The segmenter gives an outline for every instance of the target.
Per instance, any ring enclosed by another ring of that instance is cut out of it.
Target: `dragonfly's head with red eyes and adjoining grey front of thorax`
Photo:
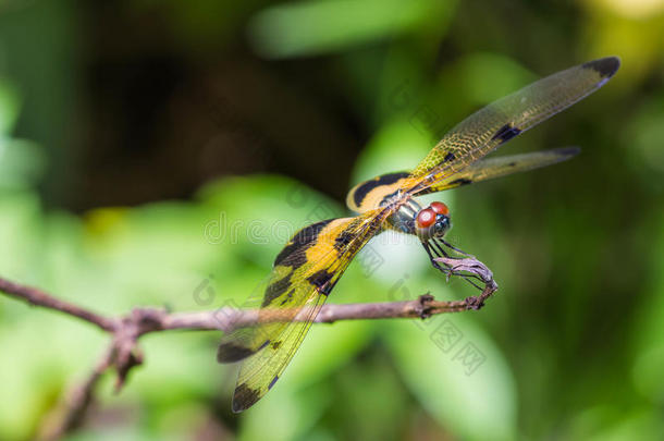
[[[389,219],[390,225],[402,233],[414,234],[422,241],[443,237],[452,228],[450,209],[443,203],[431,203],[422,207],[415,199],[408,199]]]

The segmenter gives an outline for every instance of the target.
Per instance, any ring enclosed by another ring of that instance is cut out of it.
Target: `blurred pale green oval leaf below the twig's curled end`
[[[514,379],[476,316],[389,326],[385,338],[404,380],[443,427],[463,439],[515,439]]]

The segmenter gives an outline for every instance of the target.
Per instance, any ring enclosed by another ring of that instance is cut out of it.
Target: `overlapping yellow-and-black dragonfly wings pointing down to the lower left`
[[[386,210],[322,221],[297,232],[276,256],[257,322],[222,338],[220,363],[245,359],[233,412],[260,400],[281,377],[328,295],[361,247],[380,231]]]

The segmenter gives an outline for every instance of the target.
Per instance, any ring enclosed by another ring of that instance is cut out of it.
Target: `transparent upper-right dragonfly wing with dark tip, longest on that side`
[[[479,160],[533,125],[602,87],[620,65],[602,58],[539,79],[484,107],[452,128],[413,172],[414,195]]]

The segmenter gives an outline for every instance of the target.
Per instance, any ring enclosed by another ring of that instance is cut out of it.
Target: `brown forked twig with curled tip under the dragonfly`
[[[423,319],[438,314],[479,309],[484,305],[484,301],[497,290],[491,271],[474,257],[436,260],[445,264],[452,274],[469,273],[481,280],[485,285],[484,290],[479,296],[454,302],[435,301],[432,295],[425,294],[414,301],[324,305],[315,321],[332,323],[339,320],[360,319]],[[27,301],[30,305],[77,317],[112,334],[109,348],[88,378],[67,393],[62,409],[47,418],[40,431],[41,438],[45,440],[60,439],[81,425],[93,402],[95,387],[109,368],[115,368],[118,373],[115,390],[119,391],[124,385],[132,368],[143,363],[143,353],[138,347],[138,339],[142,335],[167,330],[222,330],[229,332],[235,328],[255,324],[257,321],[298,320],[299,317],[305,317],[305,315],[292,314],[288,310],[275,310],[273,314],[259,316],[256,309],[221,307],[199,313],[169,313],[160,308],[135,308],[125,316],[113,318],[60,301],[36,287],[21,285],[2,278],[0,278],[0,291]]]

